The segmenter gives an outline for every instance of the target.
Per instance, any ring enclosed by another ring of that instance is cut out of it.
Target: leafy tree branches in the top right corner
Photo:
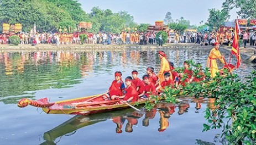
[[[233,8],[239,8],[237,12],[242,18],[256,18],[255,0],[226,0],[222,3],[222,8],[229,13]]]

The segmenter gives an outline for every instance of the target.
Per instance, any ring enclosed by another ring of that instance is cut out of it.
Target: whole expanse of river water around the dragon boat
[[[159,50],[0,53],[0,144],[222,144],[221,130],[202,132],[203,111],[211,107],[204,103],[208,101],[193,103],[185,98],[175,105],[159,104],[150,112],[125,109],[90,116],[17,107],[24,97],[55,102],[104,93],[115,71],[122,71],[123,77],[132,70],[142,77],[148,66],[158,71]],[[210,48],[163,50],[175,66],[186,59],[206,66],[210,52]],[[242,63],[234,72],[244,76],[252,70],[251,64]],[[122,133],[116,133],[117,126],[122,126]]]

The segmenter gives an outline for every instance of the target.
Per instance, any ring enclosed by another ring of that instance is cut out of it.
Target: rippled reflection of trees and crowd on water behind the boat
[[[17,103],[22,97],[35,97],[35,91],[74,87],[87,77],[112,75],[114,71],[137,69],[141,74],[148,66],[159,70],[158,49],[124,49],[121,51],[38,51],[0,53],[0,101]],[[175,66],[194,59],[206,66],[207,49],[164,49]],[[223,52],[224,53],[224,52]],[[234,59],[235,60],[235,59]],[[242,64],[238,74],[253,68]],[[110,76],[109,76],[110,77]],[[102,83],[95,78],[95,83]],[[182,111],[186,110],[181,110]]]

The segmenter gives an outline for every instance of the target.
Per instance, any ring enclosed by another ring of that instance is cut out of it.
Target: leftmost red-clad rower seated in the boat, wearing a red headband
[[[123,96],[125,86],[122,81],[122,72],[116,71],[114,73],[114,79],[115,80],[108,89],[108,93],[102,96],[105,101],[108,101],[112,96]]]

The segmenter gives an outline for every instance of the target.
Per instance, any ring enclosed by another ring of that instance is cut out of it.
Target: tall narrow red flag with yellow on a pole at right
[[[241,64],[241,56],[239,53],[239,28],[238,27],[239,27],[238,21],[236,20],[236,27],[234,30],[234,38],[233,38],[231,53],[237,57],[237,69]]]

